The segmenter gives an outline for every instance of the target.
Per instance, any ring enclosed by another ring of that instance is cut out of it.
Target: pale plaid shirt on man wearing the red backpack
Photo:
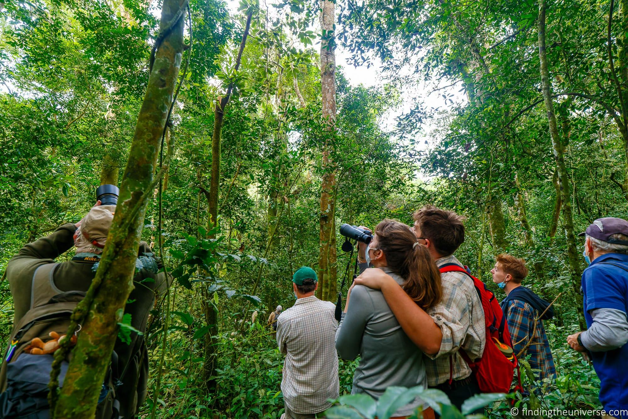
[[[439,267],[451,263],[462,266],[453,255],[436,260]],[[484,353],[486,343],[484,310],[472,279],[462,272],[445,272],[441,274],[441,281],[443,299],[428,310],[443,332],[438,354],[425,354],[425,371],[430,387],[445,383],[450,377],[460,380],[470,376],[471,369],[458,354],[458,349],[464,349],[471,359],[476,359]]]

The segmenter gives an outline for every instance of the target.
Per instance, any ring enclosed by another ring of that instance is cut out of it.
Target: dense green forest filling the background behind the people
[[[498,299],[490,270],[507,252],[553,302],[558,377],[535,381],[522,359],[526,393],[511,398],[600,409],[566,337],[587,328],[578,233],[628,214],[626,28],[626,0],[0,0],[0,272],[120,186],[137,224],[121,229],[138,233],[120,240],[148,242],[174,279],[143,334],[141,417],[279,418],[266,319],[295,303],[293,273],[313,268],[335,303],[355,261],[340,224],[411,226],[431,204],[465,217],[455,255]],[[154,105],[139,155],[153,65],[172,82],[161,101],[178,94],[167,117]],[[341,395],[356,365],[340,360]],[[511,417],[509,403],[487,398],[485,414]]]

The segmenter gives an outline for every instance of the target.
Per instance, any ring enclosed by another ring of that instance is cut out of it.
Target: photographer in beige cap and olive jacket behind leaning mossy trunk
[[[6,277],[13,296],[14,324],[0,373],[0,418],[48,418],[53,353],[67,333],[69,314],[94,279],[94,265],[100,260],[115,208],[98,201],[81,221],[62,225],[51,235],[28,243],[9,261]],[[76,247],[72,259],[55,263],[72,247]],[[136,274],[135,288],[124,309],[131,314],[131,326],[140,332],[146,330],[156,295],[168,287],[165,274],[156,273],[161,262],[151,254],[148,243],[141,242],[139,255],[153,259],[154,266]],[[44,317],[48,320],[35,323]],[[64,365],[60,384],[67,369],[66,362]],[[96,417],[134,418],[146,399],[147,383],[148,352],[143,335],[131,333],[129,343],[116,340]]]

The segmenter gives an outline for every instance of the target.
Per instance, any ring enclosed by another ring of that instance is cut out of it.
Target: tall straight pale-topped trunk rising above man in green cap
[[[323,36],[320,43],[320,79],[322,114],[325,124],[323,143],[323,181],[320,194],[320,249],[318,254],[318,298],[336,299],[336,176],[330,149],[336,123],[336,57],[333,33],[335,3],[323,0],[320,23]]]

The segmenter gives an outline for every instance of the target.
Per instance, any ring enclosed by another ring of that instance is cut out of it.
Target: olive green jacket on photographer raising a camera
[[[6,278],[9,281],[14,304],[13,324],[28,311],[31,303],[31,286],[33,275],[40,265],[55,263],[55,259],[72,249],[73,235],[76,226],[65,224],[47,237],[28,243],[19,250],[6,267]],[[139,255],[152,252],[148,243],[141,242]],[[54,271],[54,284],[61,292],[87,291],[94,279],[92,271],[95,261],[68,260],[61,262]],[[161,268],[161,262],[158,262]],[[124,309],[131,314],[131,325],[140,332],[145,332],[146,323],[154,301],[158,294],[164,293],[170,286],[171,277],[166,281],[163,272],[153,274],[141,269],[133,279],[135,288],[131,291],[129,301]],[[136,410],[146,398],[146,382],[148,380],[148,354],[143,336],[131,333],[131,344],[120,340],[114,347],[118,356],[117,374],[122,384],[116,390],[116,399],[120,402],[120,414],[123,418],[133,418]]]

